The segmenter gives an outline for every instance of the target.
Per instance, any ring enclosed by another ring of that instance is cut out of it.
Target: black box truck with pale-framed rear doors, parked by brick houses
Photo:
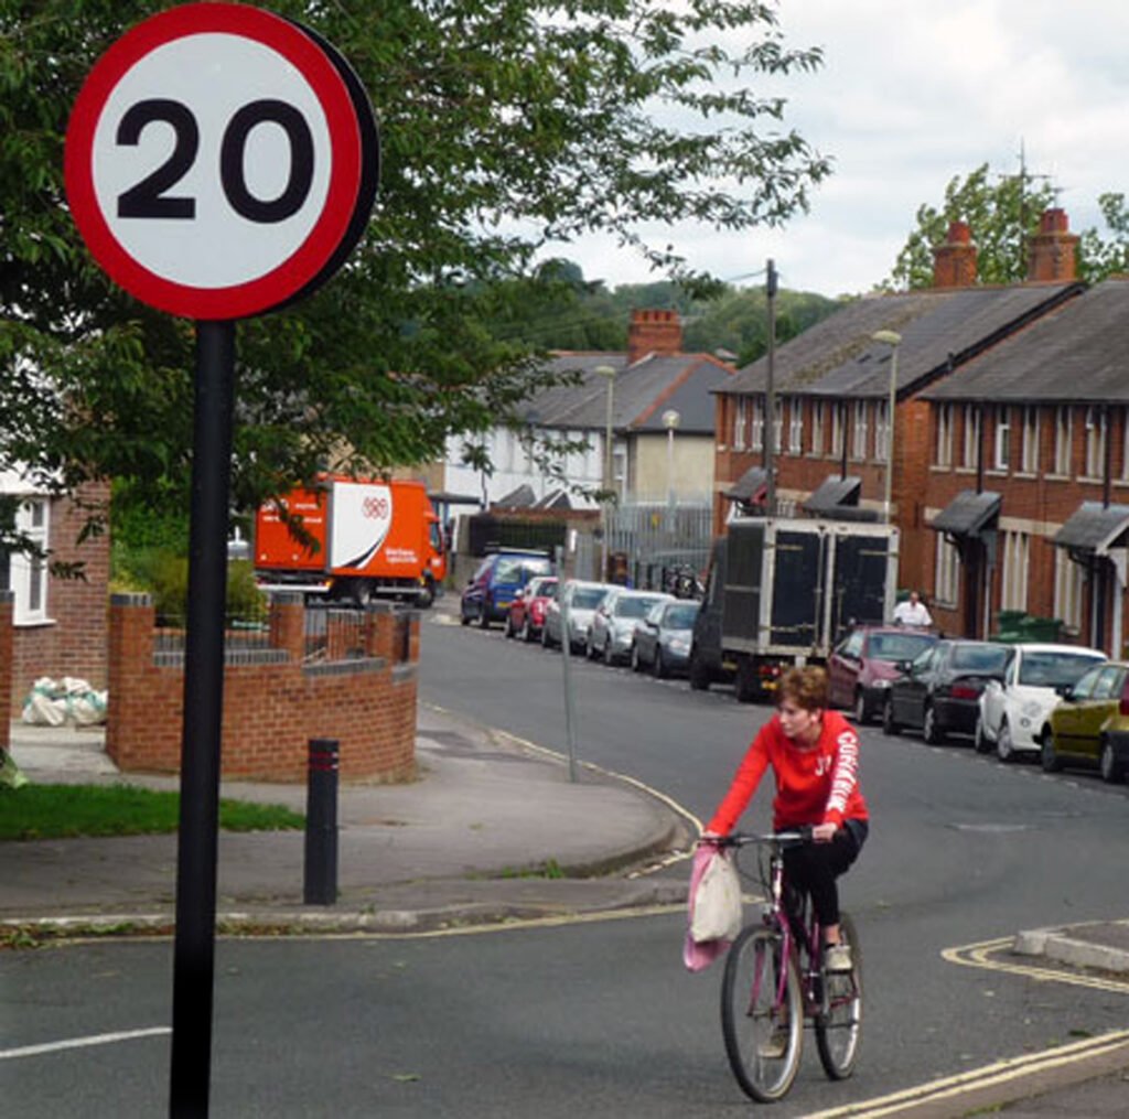
[[[690,650],[690,687],[733,680],[769,697],[784,668],[823,664],[852,624],[890,618],[898,530],[858,522],[742,517],[715,541]]]

